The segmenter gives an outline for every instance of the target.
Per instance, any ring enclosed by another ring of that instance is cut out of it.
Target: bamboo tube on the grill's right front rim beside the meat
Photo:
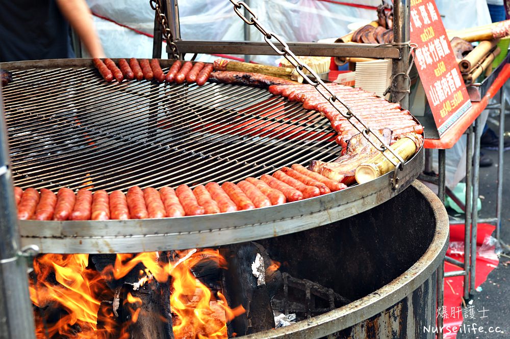
[[[407,161],[415,155],[418,150],[417,140],[413,140],[412,136],[405,136],[398,139],[395,144],[392,145],[392,149],[397,152],[404,161]],[[384,153],[393,161],[398,162],[390,151],[386,150]],[[362,163],[358,165],[354,173],[354,178],[359,184],[364,184],[393,170],[395,170],[395,166],[386,158],[385,155],[380,153],[372,158],[370,163]]]

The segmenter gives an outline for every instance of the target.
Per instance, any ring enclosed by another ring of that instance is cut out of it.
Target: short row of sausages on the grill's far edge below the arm
[[[205,64],[197,62],[193,64],[191,61],[175,61],[168,73],[165,74],[161,69],[158,59],[140,59],[131,58],[129,62],[125,59],[118,60],[118,67],[115,62],[109,58],[104,60],[94,58],[94,66],[97,68],[101,76],[111,82],[114,79],[118,82],[122,80],[143,79],[158,82],[175,82],[177,84],[196,82],[198,86],[202,86],[209,79],[213,71],[213,64]]]

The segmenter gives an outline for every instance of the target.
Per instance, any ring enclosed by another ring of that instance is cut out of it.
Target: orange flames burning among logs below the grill
[[[37,338],[129,338],[129,331],[118,328],[116,311],[112,312],[112,307],[101,301],[115,299],[115,292],[105,279],[120,279],[142,263],[145,269],[140,270],[140,280],[135,285],[143,286],[151,279],[159,283],[171,279],[170,308],[175,338],[226,339],[226,322],[243,314],[244,308],[230,308],[220,292],[215,295],[191,273],[192,267],[206,260],[224,268],[225,260],[214,249],[181,251],[179,257],[177,261],[163,261],[157,252],[118,254],[115,264],[102,272],[88,268],[88,255],[37,257],[35,279],[30,286],[32,302],[39,308],[35,312]],[[136,323],[144,312],[142,299],[127,293],[123,303],[131,313],[130,322]]]

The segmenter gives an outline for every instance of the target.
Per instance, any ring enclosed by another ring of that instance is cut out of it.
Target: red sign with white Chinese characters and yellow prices
[[[411,0],[411,42],[439,136],[470,108],[471,100],[433,0]]]

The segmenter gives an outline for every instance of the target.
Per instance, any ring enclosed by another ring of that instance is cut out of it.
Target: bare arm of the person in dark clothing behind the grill
[[[56,0],[62,15],[85,45],[92,58],[105,58],[105,51],[94,29],[90,9],[85,0]]]

